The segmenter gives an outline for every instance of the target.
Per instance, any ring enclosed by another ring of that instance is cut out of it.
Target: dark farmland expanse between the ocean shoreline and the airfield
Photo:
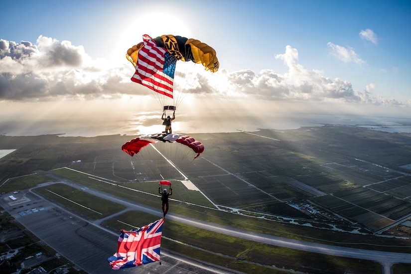
[[[206,147],[195,160],[189,149],[162,142],[130,157],[120,149],[133,138],[127,136],[0,136],[0,149],[16,149],[0,159],[1,170],[7,166],[2,181],[69,167],[150,193],[158,180],[178,185],[188,178],[209,199],[207,206],[355,224],[370,232],[411,216],[410,135],[325,125],[193,137]],[[203,200],[195,192],[176,191],[184,200]]]

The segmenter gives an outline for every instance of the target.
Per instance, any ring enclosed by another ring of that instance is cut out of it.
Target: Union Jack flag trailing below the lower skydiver
[[[107,259],[113,270],[132,268],[160,260],[164,218],[138,230],[122,230],[117,252]]]

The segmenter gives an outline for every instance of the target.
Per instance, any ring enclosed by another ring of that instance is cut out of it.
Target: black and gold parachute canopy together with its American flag
[[[136,68],[132,81],[164,96],[173,98],[174,72],[178,60],[202,64],[205,70],[216,72],[220,66],[216,51],[196,39],[174,35],[151,38],[129,48],[126,58]]]

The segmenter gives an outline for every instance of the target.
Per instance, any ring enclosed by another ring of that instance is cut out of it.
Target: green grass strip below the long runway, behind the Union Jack
[[[129,230],[148,224],[155,218],[144,212],[128,212],[106,221],[106,224],[114,230]],[[132,226],[125,227],[125,223]],[[163,248],[190,254],[190,257],[215,262],[245,273],[254,273],[257,270],[259,273],[275,273],[275,270],[281,273],[282,268],[308,273],[344,273],[350,269],[361,273],[378,273],[381,269],[379,264],[372,261],[322,256],[274,247],[169,220],[165,220],[163,226]]]

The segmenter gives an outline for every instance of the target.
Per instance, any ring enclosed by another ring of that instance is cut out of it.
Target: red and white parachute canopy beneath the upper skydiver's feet
[[[182,136],[182,134],[166,133],[137,137],[123,144],[122,149],[130,156],[133,156],[134,154],[140,152],[141,149],[146,147],[148,144],[155,143],[157,141],[177,142],[186,145],[197,153],[194,159],[200,156],[200,154],[204,151],[204,145],[200,141],[195,140],[193,137],[187,135]]]

